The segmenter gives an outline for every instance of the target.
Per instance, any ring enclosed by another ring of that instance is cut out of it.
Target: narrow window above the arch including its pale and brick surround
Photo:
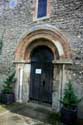
[[[33,0],[33,20],[48,18],[51,15],[52,0]]]

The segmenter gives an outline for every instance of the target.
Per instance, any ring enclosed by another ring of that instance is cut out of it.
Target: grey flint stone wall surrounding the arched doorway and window
[[[72,49],[72,78],[79,86],[79,96],[83,95],[83,0],[50,0],[51,16],[44,20],[33,21],[34,5],[32,0],[18,0],[17,6],[9,8],[8,1],[0,2],[0,37],[3,32],[3,47],[0,55],[0,84],[7,76],[8,68],[15,67],[15,52],[20,40],[34,26],[50,24],[58,28]]]

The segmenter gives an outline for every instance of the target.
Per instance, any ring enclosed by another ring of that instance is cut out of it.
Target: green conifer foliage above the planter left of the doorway
[[[4,94],[10,94],[13,93],[13,84],[15,83],[15,72],[8,75],[6,80],[4,81],[3,90],[2,93]]]

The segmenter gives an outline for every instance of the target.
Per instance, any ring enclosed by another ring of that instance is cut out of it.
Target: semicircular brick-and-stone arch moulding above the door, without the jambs
[[[53,44],[57,48],[59,57],[62,59],[71,59],[72,52],[68,39],[54,26],[51,25],[38,25],[32,27],[27,35],[20,41],[16,49],[16,61],[25,60],[26,50],[30,55],[29,47],[37,39],[46,39],[49,44]],[[33,45],[32,44],[32,45]],[[38,44],[37,44],[38,46]],[[47,44],[48,46],[48,44]],[[22,51],[21,51],[22,50]],[[29,57],[28,55],[28,57]],[[29,60],[30,58],[27,58]]]

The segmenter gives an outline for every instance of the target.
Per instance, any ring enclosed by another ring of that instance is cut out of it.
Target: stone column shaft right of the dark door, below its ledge
[[[59,100],[63,96],[65,83],[65,65],[54,64],[52,108],[55,109],[56,112],[60,110],[61,105]]]

